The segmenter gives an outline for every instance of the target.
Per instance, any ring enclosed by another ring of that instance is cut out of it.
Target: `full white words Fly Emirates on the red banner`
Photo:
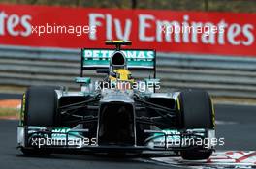
[[[181,21],[161,20],[153,14],[138,14],[138,27],[133,28],[135,25],[129,18],[126,18],[124,25],[121,25],[123,21],[114,18],[112,14],[91,13],[89,14],[89,25],[95,25],[96,27],[105,25],[105,38],[107,40],[130,40],[131,31],[138,29],[137,36],[140,42],[203,43],[211,45],[229,43],[248,46],[255,41],[254,25],[249,23],[227,23],[224,19],[220,19],[217,23],[193,21],[188,14],[184,14],[182,18]],[[186,29],[183,29],[184,27]],[[96,41],[97,34],[90,34],[89,39]]]

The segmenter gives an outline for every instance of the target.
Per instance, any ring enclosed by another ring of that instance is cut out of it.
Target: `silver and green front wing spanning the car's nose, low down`
[[[88,129],[67,127],[18,127],[17,147],[99,151],[180,151],[202,148],[214,150],[214,145],[204,141],[215,137],[215,130],[212,129],[144,130],[144,133],[150,133],[151,135],[145,139],[144,146],[98,145],[96,138],[83,136],[88,131]],[[199,145],[198,143],[204,143],[204,145]]]

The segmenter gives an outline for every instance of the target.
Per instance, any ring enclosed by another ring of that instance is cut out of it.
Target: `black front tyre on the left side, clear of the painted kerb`
[[[33,86],[28,88],[23,99],[24,126],[54,127],[56,124],[56,87]],[[24,155],[50,155],[48,149],[21,148]]]

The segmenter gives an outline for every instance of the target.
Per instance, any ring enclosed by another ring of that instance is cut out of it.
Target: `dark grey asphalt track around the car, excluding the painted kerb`
[[[14,98],[9,96],[9,98],[5,97],[5,99]],[[18,99],[18,97],[16,99]],[[256,106],[216,105],[215,109],[217,120],[216,136],[225,138],[225,145],[217,147],[217,151],[255,151]],[[18,150],[16,150],[16,126],[17,121],[0,120],[0,168],[180,168],[178,166],[169,166],[160,162],[152,161],[149,157],[144,156],[63,154],[51,155],[49,157],[24,156]],[[181,168],[184,168],[184,166]]]

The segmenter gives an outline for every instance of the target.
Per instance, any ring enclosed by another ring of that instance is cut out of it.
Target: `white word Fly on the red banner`
[[[112,40],[116,37],[119,40],[129,40],[132,30],[132,20],[125,19],[124,28],[121,26],[121,20],[112,18],[112,14],[89,14],[89,26],[101,27],[102,21],[105,22],[106,40]],[[115,32],[115,35],[113,33]],[[90,40],[97,40],[97,34],[89,34]]]

